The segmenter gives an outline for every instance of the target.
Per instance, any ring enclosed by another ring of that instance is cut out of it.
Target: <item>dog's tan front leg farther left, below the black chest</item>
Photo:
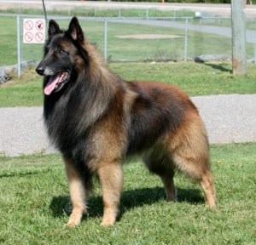
[[[73,227],[80,225],[82,216],[86,213],[86,197],[88,193],[86,193],[83,176],[79,173],[79,169],[75,163],[67,157],[64,157],[63,160],[65,162],[70,197],[73,205],[67,226]]]

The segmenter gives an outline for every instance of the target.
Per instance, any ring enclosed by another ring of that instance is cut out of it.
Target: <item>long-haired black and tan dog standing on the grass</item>
[[[67,31],[49,21],[44,59],[44,121],[66,166],[73,211],[67,225],[86,213],[92,174],[102,184],[102,225],[113,225],[123,187],[122,163],[140,154],[158,174],[168,201],[175,200],[175,168],[196,179],[206,204],[216,203],[207,133],[195,105],[164,83],[126,82],[102,61],[76,17]]]

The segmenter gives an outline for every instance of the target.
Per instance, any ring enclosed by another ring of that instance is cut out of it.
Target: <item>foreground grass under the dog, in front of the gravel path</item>
[[[64,224],[69,193],[61,157],[0,157],[1,244],[255,244],[256,144],[212,145],[218,208],[204,207],[199,185],[177,174],[178,202],[164,200],[160,179],[140,162],[125,165],[121,215],[100,226],[100,186],[89,217]]]

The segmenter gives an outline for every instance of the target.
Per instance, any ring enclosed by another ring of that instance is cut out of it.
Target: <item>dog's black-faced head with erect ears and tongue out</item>
[[[55,20],[49,20],[44,58],[36,68],[45,77],[44,94],[59,92],[76,79],[81,67],[89,62],[83,45],[84,33],[76,17],[70,21],[67,31],[62,31]]]

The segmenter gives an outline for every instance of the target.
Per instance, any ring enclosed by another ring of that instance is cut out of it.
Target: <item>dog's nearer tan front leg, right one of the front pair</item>
[[[123,190],[123,168],[119,162],[104,162],[97,174],[102,184],[104,212],[102,225],[113,225],[119,213]]]

